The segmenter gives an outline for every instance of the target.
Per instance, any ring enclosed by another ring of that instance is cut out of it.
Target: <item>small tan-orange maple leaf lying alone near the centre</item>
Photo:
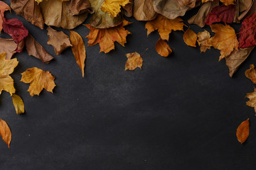
[[[138,52],[132,52],[132,53],[128,53],[126,54],[128,60],[125,63],[125,70],[129,69],[129,70],[134,70],[137,67],[139,67],[140,69],[142,69],[142,57],[139,55]]]

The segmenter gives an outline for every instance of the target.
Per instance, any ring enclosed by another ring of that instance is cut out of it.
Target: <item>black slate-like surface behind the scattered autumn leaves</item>
[[[183,19],[196,11],[188,11]],[[87,50],[82,79],[70,49],[55,56],[46,30],[14,11],[6,13],[6,18],[23,21],[55,57],[44,69],[56,77],[57,86],[53,94],[43,90],[31,97],[29,85],[20,81],[21,72],[41,68],[42,62],[26,50],[15,55],[19,64],[11,77],[26,113],[16,115],[9,94],[1,94],[0,117],[12,132],[10,148],[0,141],[1,170],[255,169],[255,113],[245,104],[253,85],[244,74],[256,62],[255,50],[230,79],[225,61],[218,62],[219,51],[200,53],[198,47],[188,47],[182,31],[170,34],[174,52],[161,57],[154,47],[159,34],[147,38],[146,22],[127,18],[133,23],[126,27],[132,33],[126,47],[115,43],[115,50],[106,55],[99,53],[99,45],[87,47],[89,30],[79,26],[75,31]],[[233,26],[238,33],[240,26]],[[196,33],[203,30],[191,28]],[[125,54],[142,54],[146,48],[142,70],[125,72]],[[250,137],[240,145],[236,128],[247,118]]]

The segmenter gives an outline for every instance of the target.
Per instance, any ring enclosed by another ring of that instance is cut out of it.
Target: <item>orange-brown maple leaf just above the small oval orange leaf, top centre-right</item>
[[[169,19],[164,16],[157,16],[154,20],[148,21],[145,28],[147,29],[147,35],[154,30],[158,30],[161,39],[169,40],[169,33],[172,30],[183,30],[184,24],[181,18]]]

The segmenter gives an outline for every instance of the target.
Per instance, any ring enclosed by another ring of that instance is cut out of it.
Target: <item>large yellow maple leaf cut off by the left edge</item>
[[[17,59],[6,60],[6,53],[0,55],[0,94],[1,91],[7,91],[14,94],[14,79],[9,74],[14,72],[14,68],[18,65]]]

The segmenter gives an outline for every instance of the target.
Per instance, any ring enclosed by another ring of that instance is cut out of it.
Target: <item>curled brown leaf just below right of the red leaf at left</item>
[[[26,50],[28,55],[38,58],[42,62],[49,63],[53,60],[53,56],[49,55],[48,52],[33,38],[31,34],[28,34],[26,38]]]

